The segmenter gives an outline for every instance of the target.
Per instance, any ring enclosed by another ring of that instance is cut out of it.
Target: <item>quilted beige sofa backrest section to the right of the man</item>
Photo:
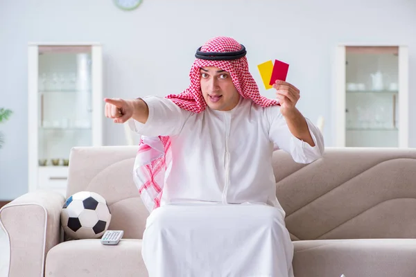
[[[327,148],[307,166],[275,153],[293,240],[416,238],[416,149]]]

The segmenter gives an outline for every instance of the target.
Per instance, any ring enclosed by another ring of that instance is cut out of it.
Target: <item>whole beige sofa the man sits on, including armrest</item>
[[[125,231],[117,246],[62,242],[64,197],[55,193],[29,193],[1,209],[11,277],[148,275],[140,240],[148,212],[132,181],[136,150],[71,151],[67,195],[89,190],[107,199],[110,229]],[[309,165],[277,151],[273,166],[295,277],[416,276],[416,149],[327,148]]]

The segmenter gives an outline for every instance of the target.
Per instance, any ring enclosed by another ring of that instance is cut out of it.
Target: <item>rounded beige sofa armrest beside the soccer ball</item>
[[[59,193],[37,191],[0,209],[0,227],[10,243],[9,276],[44,276],[46,253],[60,242],[64,202]]]

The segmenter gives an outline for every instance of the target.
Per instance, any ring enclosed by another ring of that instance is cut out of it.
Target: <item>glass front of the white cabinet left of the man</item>
[[[68,166],[73,146],[92,145],[92,47],[38,49],[39,166]]]

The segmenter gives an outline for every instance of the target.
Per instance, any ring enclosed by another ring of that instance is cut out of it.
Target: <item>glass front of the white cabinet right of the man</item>
[[[345,49],[345,146],[399,146],[399,47]]]

